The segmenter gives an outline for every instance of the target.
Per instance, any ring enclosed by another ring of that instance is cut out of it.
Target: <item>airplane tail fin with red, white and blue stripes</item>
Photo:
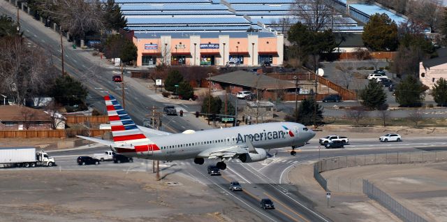
[[[122,152],[125,152],[125,149],[131,149],[131,151],[148,151],[149,146],[152,146],[152,142],[138,128],[115,97],[112,95],[104,96],[104,101],[115,147],[118,150],[123,149]]]

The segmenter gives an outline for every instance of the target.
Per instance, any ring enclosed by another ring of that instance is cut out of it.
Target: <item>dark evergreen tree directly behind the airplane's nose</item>
[[[314,98],[304,99],[301,101],[298,110],[295,110],[295,114],[293,115],[293,121],[296,119],[296,115],[298,114],[298,123],[309,126],[314,124],[314,108],[315,108],[315,100]],[[320,125],[323,123],[323,107],[316,104],[316,125]]]

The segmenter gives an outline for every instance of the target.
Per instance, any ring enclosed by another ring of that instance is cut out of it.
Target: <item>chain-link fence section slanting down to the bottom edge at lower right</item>
[[[387,193],[381,191],[381,189],[374,186],[374,184],[369,183],[366,179],[363,179],[363,193],[365,193],[368,198],[376,200],[383,207],[386,207],[386,209],[398,216],[402,221],[427,222],[427,220],[423,219],[418,214],[411,212],[411,210],[404,207],[404,205],[401,205]]]

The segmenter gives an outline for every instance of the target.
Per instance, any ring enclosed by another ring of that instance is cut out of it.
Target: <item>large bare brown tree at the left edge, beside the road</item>
[[[56,75],[50,54],[20,37],[0,39],[0,91],[24,104],[45,91]]]

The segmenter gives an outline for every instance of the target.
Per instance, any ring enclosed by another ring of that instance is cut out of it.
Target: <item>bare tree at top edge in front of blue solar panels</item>
[[[333,4],[332,0],[295,0],[291,13],[306,24],[310,31],[323,31],[325,27],[332,27],[339,18],[333,16]]]

